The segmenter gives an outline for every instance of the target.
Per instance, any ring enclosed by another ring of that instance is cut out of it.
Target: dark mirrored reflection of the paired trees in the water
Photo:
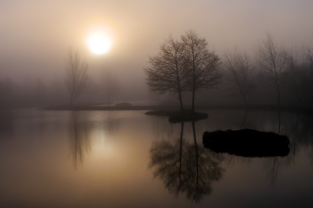
[[[181,123],[180,138],[156,141],[150,150],[149,168],[154,177],[160,178],[166,189],[178,197],[184,193],[193,202],[212,192],[211,184],[222,178],[223,156],[197,145],[195,122],[191,122],[194,143],[183,142],[184,123]]]

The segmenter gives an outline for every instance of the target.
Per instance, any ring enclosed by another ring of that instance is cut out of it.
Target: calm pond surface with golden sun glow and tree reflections
[[[144,113],[1,112],[0,207],[313,207],[313,117],[212,110],[193,126]],[[204,131],[242,128],[289,136],[289,155],[202,145]]]

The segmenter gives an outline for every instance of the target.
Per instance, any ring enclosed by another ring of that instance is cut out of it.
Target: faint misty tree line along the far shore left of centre
[[[88,69],[79,51],[70,47],[65,58],[64,81],[51,80],[49,84],[40,77],[30,77],[25,83],[17,84],[9,77],[0,77],[0,109],[62,105],[68,98],[68,104],[72,105],[83,94],[85,103],[92,103],[95,95],[103,94],[110,106],[111,97],[120,88],[117,76],[112,70],[104,69],[99,75],[101,81],[97,83],[89,76]]]

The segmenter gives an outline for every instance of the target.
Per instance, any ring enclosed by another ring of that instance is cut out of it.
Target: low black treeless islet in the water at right
[[[212,151],[243,157],[287,156],[290,151],[287,136],[252,129],[204,132],[202,143]]]

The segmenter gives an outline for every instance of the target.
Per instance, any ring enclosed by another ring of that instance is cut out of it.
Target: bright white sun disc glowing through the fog
[[[109,37],[102,33],[90,34],[87,39],[87,45],[94,54],[105,54],[111,49],[112,42]]]

